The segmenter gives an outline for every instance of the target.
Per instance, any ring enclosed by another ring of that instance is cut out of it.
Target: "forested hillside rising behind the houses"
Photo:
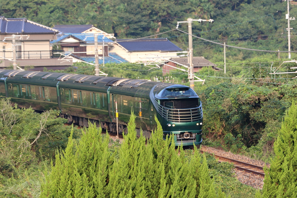
[[[228,45],[261,50],[287,50],[287,2],[279,0],[2,0],[0,15],[6,18],[26,17],[53,27],[58,24],[93,24],[117,38],[140,38],[176,27],[188,17],[215,20],[214,24],[193,23],[194,35]],[[297,17],[297,5],[290,5],[290,16]],[[296,20],[291,27],[296,27]],[[187,31],[187,24],[181,24]],[[292,30],[291,50],[297,50],[296,31]],[[168,37],[186,49],[187,35],[173,31]],[[223,48],[193,40],[195,56],[222,62]],[[227,62],[254,56],[277,58],[277,53],[258,53],[227,48]],[[294,53],[292,57],[294,58]],[[281,57],[287,57],[282,53]]]

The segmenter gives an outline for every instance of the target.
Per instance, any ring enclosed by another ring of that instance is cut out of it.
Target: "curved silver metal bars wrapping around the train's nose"
[[[156,86],[156,85],[155,85]],[[171,109],[163,107],[154,99],[154,88],[151,89],[149,94],[151,102],[156,108],[157,112],[167,121],[173,122],[193,122],[203,118],[202,103],[200,101],[199,107],[187,109]]]

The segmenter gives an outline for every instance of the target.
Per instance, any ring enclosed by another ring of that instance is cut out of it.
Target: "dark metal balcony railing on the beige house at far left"
[[[64,50],[50,50],[50,51],[16,51],[17,59],[43,59],[43,58],[59,58],[57,52],[64,52]],[[3,52],[0,51],[0,60],[9,58],[12,59],[12,51]]]

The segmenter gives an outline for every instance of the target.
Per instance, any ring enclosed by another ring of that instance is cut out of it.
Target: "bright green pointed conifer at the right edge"
[[[265,169],[263,186],[263,197],[265,198],[297,196],[296,127],[297,107],[296,102],[293,101],[274,142],[275,157],[270,168]]]

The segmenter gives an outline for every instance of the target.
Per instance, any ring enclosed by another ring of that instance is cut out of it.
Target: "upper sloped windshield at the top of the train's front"
[[[193,91],[189,87],[183,87],[183,88],[168,88],[163,89],[160,91],[157,96],[161,98],[177,98],[177,97],[190,97],[190,96],[197,96],[195,91]]]

